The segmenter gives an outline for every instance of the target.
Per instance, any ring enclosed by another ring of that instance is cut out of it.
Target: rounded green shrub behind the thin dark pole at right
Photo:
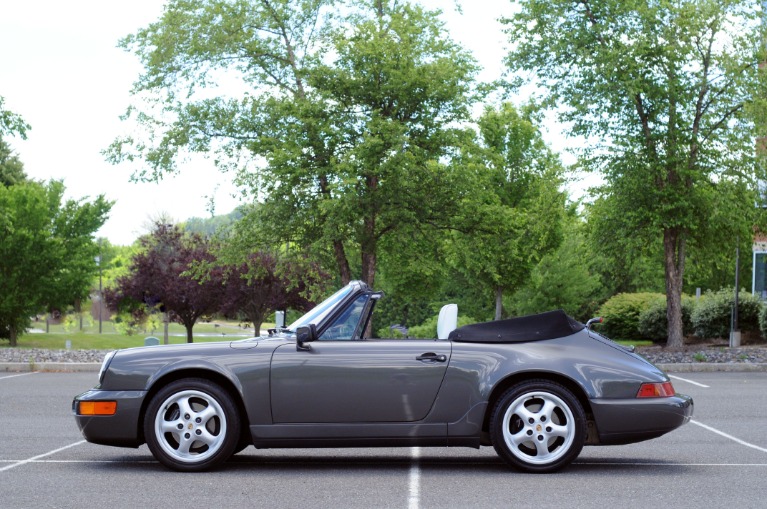
[[[692,325],[699,338],[714,339],[730,336],[730,323],[735,298],[731,289],[706,292],[692,313]],[[738,328],[756,332],[760,328],[762,302],[759,297],[741,291],[738,294]]]

